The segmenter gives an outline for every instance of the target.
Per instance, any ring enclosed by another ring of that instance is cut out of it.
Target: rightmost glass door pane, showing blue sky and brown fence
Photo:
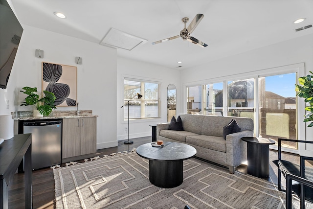
[[[296,73],[259,77],[259,135],[278,142],[278,138],[298,139]],[[276,144],[277,145],[277,144]],[[297,143],[282,146],[297,149]]]

